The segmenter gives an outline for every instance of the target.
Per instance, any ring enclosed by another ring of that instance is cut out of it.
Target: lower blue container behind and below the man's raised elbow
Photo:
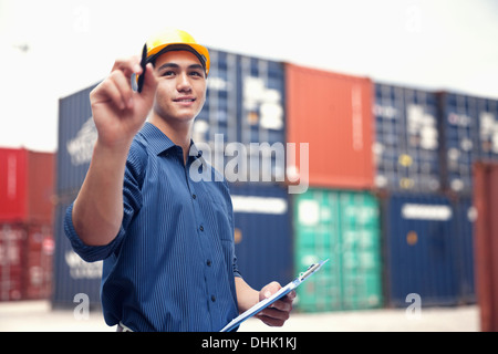
[[[52,305],[55,308],[74,306],[74,296],[79,293],[89,295],[91,305],[100,306],[100,288],[102,261],[87,263],[74,253],[64,235],[64,216],[69,204],[75,195],[60,196],[55,209],[55,253],[53,256],[53,293]]]

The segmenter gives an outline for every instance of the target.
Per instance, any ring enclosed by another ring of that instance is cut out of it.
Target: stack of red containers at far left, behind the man
[[[52,284],[54,156],[0,149],[0,300],[46,299]]]

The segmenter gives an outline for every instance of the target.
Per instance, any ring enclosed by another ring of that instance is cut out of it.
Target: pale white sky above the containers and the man
[[[59,100],[165,27],[217,50],[498,100],[496,0],[0,0],[0,147],[55,152]]]

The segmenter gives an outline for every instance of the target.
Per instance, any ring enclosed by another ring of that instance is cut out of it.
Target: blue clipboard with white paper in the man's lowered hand
[[[288,293],[290,293],[292,290],[294,290],[295,288],[298,288],[304,280],[307,280],[308,278],[310,278],[312,274],[314,274],[318,270],[320,270],[320,268],[322,268],[322,266],[328,262],[329,259],[325,259],[321,262],[311,264],[305,272],[302,272],[301,274],[299,274],[298,278],[295,278],[294,280],[292,280],[290,283],[288,283],[286,287],[283,287],[282,289],[280,289],[279,291],[277,291],[273,295],[271,295],[268,299],[261,300],[260,302],[258,302],[256,305],[253,305],[252,308],[250,308],[249,310],[247,310],[246,312],[243,312],[242,314],[240,314],[239,316],[235,317],[234,320],[231,320],[225,327],[221,329],[220,332],[230,332],[234,329],[236,329],[238,325],[240,325],[240,323],[242,323],[243,321],[246,321],[247,319],[252,317],[255,314],[257,314],[258,312],[264,310],[266,308],[268,308],[269,305],[271,305],[273,302],[276,302],[277,300],[286,296]]]

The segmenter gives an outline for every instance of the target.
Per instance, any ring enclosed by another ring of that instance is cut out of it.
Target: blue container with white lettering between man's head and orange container
[[[230,181],[260,181],[267,166],[266,181],[283,181],[286,168],[274,156],[286,142],[283,64],[219,50],[209,53],[206,103],[194,123],[194,142],[207,145],[203,156]]]

